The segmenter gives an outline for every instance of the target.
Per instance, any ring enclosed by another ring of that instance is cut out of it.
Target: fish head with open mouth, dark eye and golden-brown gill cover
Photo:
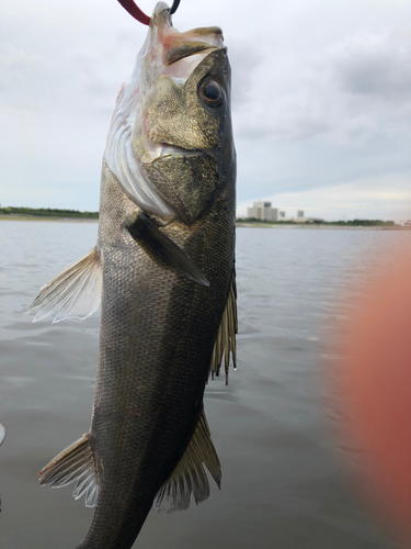
[[[106,160],[129,198],[195,221],[231,178],[230,65],[217,26],[180,33],[159,2],[109,133]]]

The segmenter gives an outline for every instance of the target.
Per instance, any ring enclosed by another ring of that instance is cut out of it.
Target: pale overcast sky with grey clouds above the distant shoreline
[[[116,0],[0,10],[1,206],[96,211],[147,27]],[[224,30],[239,215],[269,200],[288,216],[411,219],[410,0],[181,0],[173,24]]]

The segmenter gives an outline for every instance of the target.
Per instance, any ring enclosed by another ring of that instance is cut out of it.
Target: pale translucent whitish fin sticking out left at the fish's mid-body
[[[53,323],[65,318],[87,318],[99,309],[102,282],[100,257],[94,247],[45,284],[27,313],[39,307],[33,322],[47,316],[54,316]]]

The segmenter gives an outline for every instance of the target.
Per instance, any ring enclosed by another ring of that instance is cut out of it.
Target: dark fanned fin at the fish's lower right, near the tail
[[[204,466],[207,467],[219,488],[221,466],[203,410],[193,438],[183,457],[157,494],[152,505],[153,509],[157,512],[165,509],[168,513],[185,511],[190,506],[192,493],[197,505],[207,500],[209,484]]]

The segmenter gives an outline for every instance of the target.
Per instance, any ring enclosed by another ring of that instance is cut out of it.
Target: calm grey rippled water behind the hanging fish
[[[89,428],[99,315],[32,324],[38,288],[95,243],[94,223],[0,222],[0,547],[73,549],[92,509],[37,472]],[[409,233],[239,228],[238,370],[210,382],[206,413],[222,489],[184,513],[151,513],[135,547],[389,549],[357,500],[321,382],[345,294],[366,291]],[[355,301],[352,304],[355,309]],[[346,310],[346,307],[345,307]]]

